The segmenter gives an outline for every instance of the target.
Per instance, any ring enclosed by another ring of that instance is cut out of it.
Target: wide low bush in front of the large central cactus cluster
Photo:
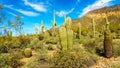
[[[83,49],[59,52],[50,60],[52,68],[88,68],[96,63],[96,57]]]

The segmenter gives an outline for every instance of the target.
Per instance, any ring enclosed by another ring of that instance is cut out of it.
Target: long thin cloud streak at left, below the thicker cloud
[[[36,13],[36,12],[32,12],[32,11],[25,11],[25,10],[22,10],[22,9],[15,9],[15,8],[12,8],[12,6],[9,6],[9,5],[5,5],[5,7],[9,8],[9,9],[12,9],[12,10],[15,10],[19,13],[22,13],[26,16],[38,16],[39,14]],[[12,14],[14,15],[14,14]]]

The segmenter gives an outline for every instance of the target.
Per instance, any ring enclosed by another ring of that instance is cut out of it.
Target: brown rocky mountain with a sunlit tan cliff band
[[[120,5],[112,7],[104,7],[90,11],[80,19],[74,19],[72,22],[73,29],[76,31],[77,24],[80,22],[84,28],[90,28],[92,25],[92,18],[94,17],[97,28],[102,28],[105,24],[105,17],[108,17],[109,22],[112,24],[111,29],[120,29]],[[118,28],[116,28],[118,27]]]

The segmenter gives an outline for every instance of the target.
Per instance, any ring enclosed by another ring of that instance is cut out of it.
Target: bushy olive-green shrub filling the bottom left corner
[[[1,54],[0,67],[1,68],[18,68],[22,63],[19,55],[16,54]]]

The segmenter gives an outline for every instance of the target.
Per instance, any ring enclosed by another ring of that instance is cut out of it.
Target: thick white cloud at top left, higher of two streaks
[[[28,0],[23,0],[25,5],[28,5],[30,7],[32,7],[34,10],[39,11],[39,12],[46,12],[47,9],[45,8],[43,3],[30,3]]]

